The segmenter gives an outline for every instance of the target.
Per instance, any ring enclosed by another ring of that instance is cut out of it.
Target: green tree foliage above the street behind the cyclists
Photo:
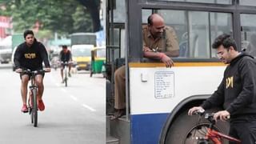
[[[14,32],[33,29],[39,22],[39,31],[47,34],[91,32],[90,13],[76,0],[0,0],[0,15],[12,17]]]

